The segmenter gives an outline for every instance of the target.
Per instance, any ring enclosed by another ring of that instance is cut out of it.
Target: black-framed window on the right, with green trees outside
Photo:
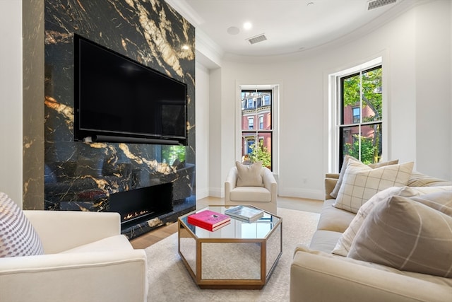
[[[345,155],[377,163],[382,154],[381,65],[338,77],[338,163]]]

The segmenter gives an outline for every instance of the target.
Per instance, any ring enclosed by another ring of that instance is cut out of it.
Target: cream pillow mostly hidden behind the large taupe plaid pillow
[[[438,196],[436,195],[438,194]],[[364,203],[358,210],[355,218],[353,218],[350,226],[340,236],[338,243],[336,243],[333,249],[333,254],[347,256],[352,246],[353,239],[361,228],[364,219],[374,209],[374,207],[380,202],[386,202],[394,195],[403,197],[411,197],[413,200],[422,200],[424,204],[430,202],[436,204],[438,209],[447,209],[449,206],[446,204],[446,198],[452,196],[452,186],[445,187],[389,187],[386,190],[375,194],[368,202]],[[445,199],[445,200],[444,200]],[[427,204],[429,205],[429,204]]]

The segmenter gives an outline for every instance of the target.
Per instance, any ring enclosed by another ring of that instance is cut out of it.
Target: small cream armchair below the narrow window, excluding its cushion
[[[278,185],[268,168],[261,168],[262,187],[237,187],[238,170],[231,168],[225,180],[225,205],[250,204],[254,207],[277,214],[276,197]]]

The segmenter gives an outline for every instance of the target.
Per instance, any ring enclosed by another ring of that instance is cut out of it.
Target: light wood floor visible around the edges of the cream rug
[[[196,201],[196,209],[202,209],[208,205],[223,205],[225,199],[218,197],[206,197]],[[320,213],[323,202],[315,199],[301,199],[295,197],[278,197],[278,207],[285,209],[296,209],[299,211],[311,211]],[[177,233],[177,223],[168,226],[160,226],[144,235],[133,238],[131,244],[133,248],[148,248],[148,246]]]

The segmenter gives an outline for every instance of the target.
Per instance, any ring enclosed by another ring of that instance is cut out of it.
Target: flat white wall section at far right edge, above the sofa
[[[436,173],[441,178],[451,178],[446,161],[432,158],[449,158],[452,152],[445,148],[451,144],[451,10],[445,2],[421,6],[416,12],[416,149],[417,168]],[[434,16],[434,21],[432,21]],[[436,58],[436,59],[434,59]],[[448,123],[446,123],[448,121]],[[448,131],[447,131],[448,129]]]

